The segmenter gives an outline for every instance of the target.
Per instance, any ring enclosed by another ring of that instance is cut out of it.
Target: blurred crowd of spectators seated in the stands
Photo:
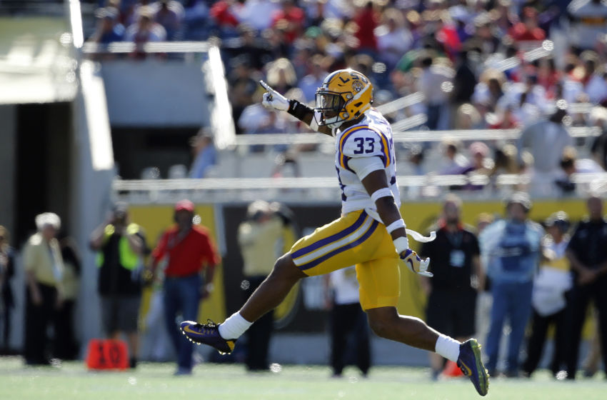
[[[554,195],[573,190],[571,174],[606,166],[607,5],[601,1],[105,0],[99,5],[89,41],[218,43],[237,134],[306,131],[291,116],[261,106],[259,79],[288,98],[313,104],[329,71],[351,67],[371,79],[374,106],[423,94],[421,101],[384,113],[398,123],[395,130],[423,116],[408,128],[526,132],[518,143],[472,144],[455,136],[438,145],[422,136],[419,144],[397,149],[414,174],[529,173],[538,180],[548,177],[550,187],[539,194]],[[131,56],[146,54],[137,47]],[[596,127],[598,133],[588,129],[582,136],[591,139],[574,141],[573,127]],[[538,140],[533,134],[538,130],[548,134]],[[546,156],[545,144],[554,138]],[[288,150],[284,158],[293,161],[297,152],[316,146],[273,149]],[[425,162],[428,150],[442,159]]]

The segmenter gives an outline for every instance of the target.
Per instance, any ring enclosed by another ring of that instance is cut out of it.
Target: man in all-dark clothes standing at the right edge
[[[603,364],[607,370],[607,221],[603,217],[602,199],[591,196],[586,206],[588,219],[578,224],[566,251],[573,271],[567,310],[570,329],[566,355],[568,379],[576,378],[582,326],[591,299],[598,310]]]

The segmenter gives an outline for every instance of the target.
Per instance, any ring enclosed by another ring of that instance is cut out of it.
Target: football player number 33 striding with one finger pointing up
[[[398,207],[396,159],[391,126],[371,108],[373,86],[358,71],[341,69],[329,74],[316,91],[316,108],[286,99],[270,86],[262,104],[286,111],[313,131],[335,137],[335,166],[341,188],[341,217],[316,229],[294,244],[274,264],[264,283],[242,308],[221,324],[181,323],[194,343],[214,346],[222,353],[251,324],[274,309],[299,279],[327,274],[356,264],[360,301],[371,329],[386,339],[436,351],[454,361],[484,396],[488,374],[476,339],[463,343],[440,334],[421,319],[398,315],[400,296],[398,259],[416,274],[432,276],[429,259],[409,249],[408,231]],[[417,239],[421,239],[417,236]]]

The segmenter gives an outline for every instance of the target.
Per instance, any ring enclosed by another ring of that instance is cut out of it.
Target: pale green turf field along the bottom
[[[465,379],[432,382],[428,370],[376,367],[368,379],[346,369],[331,379],[325,366],[283,366],[249,374],[241,365],[201,364],[192,376],[172,376],[174,364],[141,364],[136,371],[89,372],[81,363],[24,368],[19,358],[0,358],[0,399],[122,400],[448,400],[481,399]],[[486,399],[607,399],[601,377],[555,381],[546,371],[528,379],[493,379]]]

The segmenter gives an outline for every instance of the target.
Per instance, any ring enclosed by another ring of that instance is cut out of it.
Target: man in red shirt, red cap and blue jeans
[[[209,296],[213,289],[214,268],[221,261],[209,231],[193,223],[194,204],[181,200],[175,204],[176,224],[162,235],[156,249],[152,251],[151,272],[161,260],[164,267],[164,316],[177,353],[176,375],[189,375],[192,370],[191,342],[181,339],[178,314],[184,319],[198,318],[201,299]],[[202,279],[201,271],[204,271]]]

